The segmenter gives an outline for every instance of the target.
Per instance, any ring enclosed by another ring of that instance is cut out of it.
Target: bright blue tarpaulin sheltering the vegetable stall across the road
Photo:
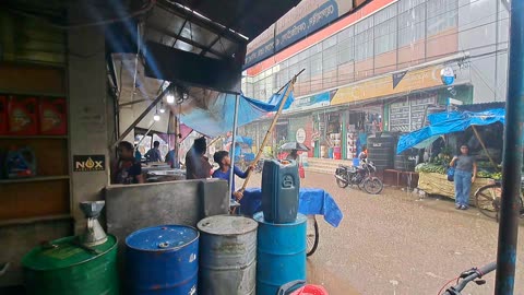
[[[426,148],[442,134],[464,131],[471,126],[505,123],[505,109],[495,108],[478,113],[443,111],[429,115],[428,120],[429,126],[400,138],[397,154],[410,148]]]

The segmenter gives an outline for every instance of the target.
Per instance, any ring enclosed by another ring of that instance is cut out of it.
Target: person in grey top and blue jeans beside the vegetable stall
[[[453,167],[455,164],[455,209],[467,210],[472,184],[477,175],[477,163],[475,157],[469,155],[469,146],[461,145],[461,154],[453,157],[450,166]]]

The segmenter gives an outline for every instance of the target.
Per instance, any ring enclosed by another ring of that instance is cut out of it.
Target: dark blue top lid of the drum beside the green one
[[[199,232],[191,226],[162,225],[136,231],[126,238],[130,248],[146,251],[180,249],[199,238]]]

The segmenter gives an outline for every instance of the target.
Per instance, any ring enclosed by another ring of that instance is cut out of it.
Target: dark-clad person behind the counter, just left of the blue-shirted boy
[[[194,140],[193,146],[186,154],[186,178],[205,179],[211,177],[212,166],[210,160],[204,156],[207,145],[205,138]]]

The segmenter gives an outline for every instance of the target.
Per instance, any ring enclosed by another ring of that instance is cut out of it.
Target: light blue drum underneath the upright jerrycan
[[[253,217],[259,222],[257,295],[274,295],[290,281],[306,280],[306,215],[285,224],[265,222],[262,212]]]

